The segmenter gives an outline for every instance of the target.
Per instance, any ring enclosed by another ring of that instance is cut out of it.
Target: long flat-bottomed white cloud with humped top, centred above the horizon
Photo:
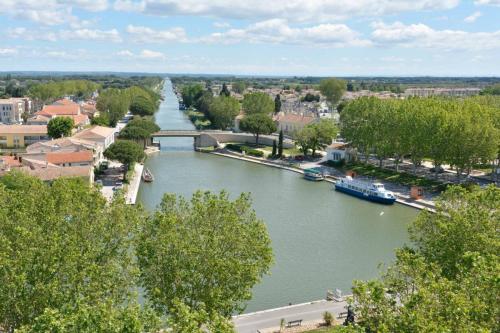
[[[356,31],[345,24],[320,24],[312,27],[293,28],[283,19],[271,19],[251,24],[243,29],[229,29],[212,33],[200,39],[206,43],[276,43],[314,44],[322,46],[368,46]]]

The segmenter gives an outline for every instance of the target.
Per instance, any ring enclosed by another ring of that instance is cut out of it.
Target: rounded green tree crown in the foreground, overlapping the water
[[[189,308],[229,318],[250,299],[269,271],[271,242],[264,223],[242,194],[196,192],[191,201],[163,197],[137,244],[141,285],[160,312],[178,300]]]

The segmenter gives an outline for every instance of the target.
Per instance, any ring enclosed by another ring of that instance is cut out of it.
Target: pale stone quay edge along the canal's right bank
[[[228,157],[228,158],[233,158],[237,159],[240,161],[245,161],[245,162],[251,162],[251,163],[256,163],[260,165],[265,165],[273,168],[278,168],[282,170],[287,170],[287,171],[292,171],[295,173],[299,174],[304,174],[304,170],[301,168],[296,168],[296,167],[290,167],[290,166],[285,166],[273,161],[265,160],[262,158],[258,157],[250,157],[250,156],[244,156],[242,154],[237,154],[234,152],[229,152],[229,151],[204,151],[204,150],[199,150],[200,152],[208,153],[208,154],[213,154],[217,156],[222,156],[222,157]],[[335,184],[335,181],[338,179],[338,176],[334,175],[328,175],[325,177],[325,181]],[[396,195],[396,202],[402,205],[406,205],[412,208],[420,209],[420,210],[428,210],[431,212],[435,212],[435,203],[434,201],[430,200],[415,200],[412,199],[409,195],[403,194],[401,192],[393,191],[394,194]]]

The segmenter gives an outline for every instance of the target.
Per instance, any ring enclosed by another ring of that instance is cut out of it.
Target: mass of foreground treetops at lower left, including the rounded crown
[[[273,262],[246,194],[167,194],[148,214],[83,180],[12,172],[0,201],[2,331],[157,332],[168,316],[174,333],[233,332]]]

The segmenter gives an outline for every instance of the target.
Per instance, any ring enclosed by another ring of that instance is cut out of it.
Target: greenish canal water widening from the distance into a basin
[[[162,129],[192,129],[178,109],[169,80],[156,115]],[[337,193],[326,182],[309,182],[294,172],[193,151],[193,139],[161,139],[148,157],[155,176],[141,184],[139,201],[154,209],[166,192],[185,197],[198,190],[250,192],[267,225],[275,264],[254,288],[246,312],[324,298],[328,289],[348,293],[352,280],[378,276],[379,264],[394,258],[408,241],[407,226],[418,211],[383,206]]]

